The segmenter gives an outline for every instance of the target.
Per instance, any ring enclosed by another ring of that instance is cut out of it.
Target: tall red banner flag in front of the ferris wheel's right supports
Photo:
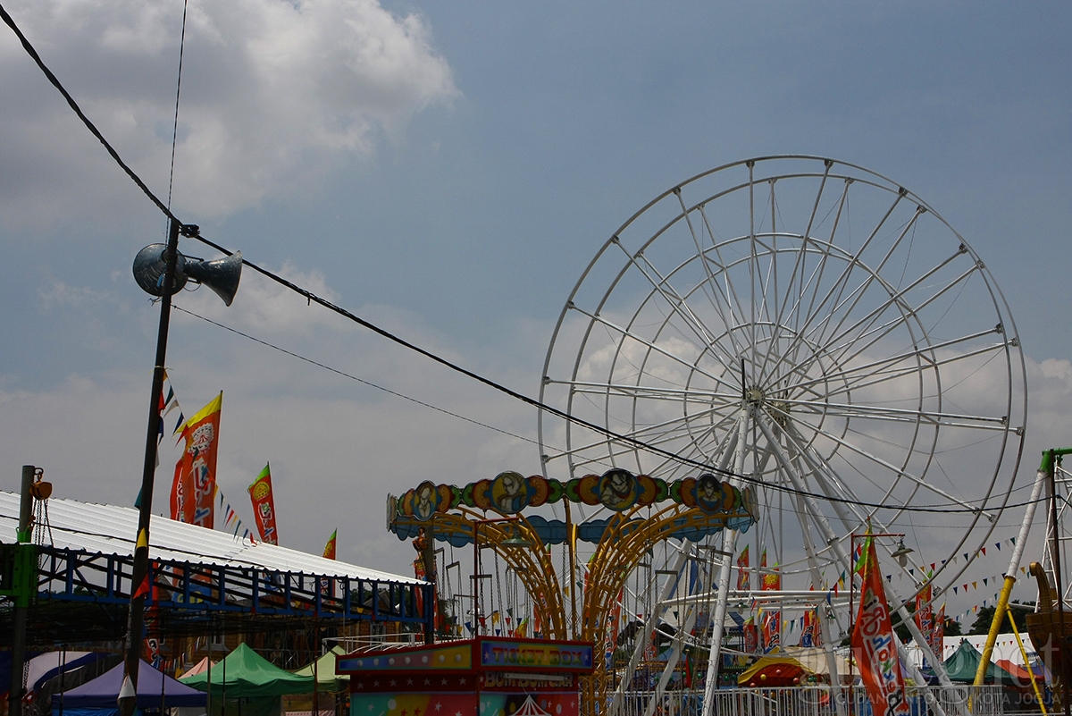
[[[910,716],[875,543],[870,537],[865,542],[865,552],[861,556],[863,594],[852,628],[852,653],[860,666],[860,677],[867,687],[875,716]]]

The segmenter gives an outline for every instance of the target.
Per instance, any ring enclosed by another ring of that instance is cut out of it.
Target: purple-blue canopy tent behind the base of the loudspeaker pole
[[[53,714],[62,706],[64,716],[110,716],[119,713],[119,689],[123,685],[123,665],[117,663],[93,681],[53,696]],[[161,696],[163,693],[163,696]],[[137,707],[199,706],[205,707],[206,697],[169,676],[160,673],[145,661],[137,672]]]

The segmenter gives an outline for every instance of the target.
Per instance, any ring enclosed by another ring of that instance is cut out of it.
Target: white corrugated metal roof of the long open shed
[[[0,491],[0,541],[14,542],[19,496]],[[138,511],[133,507],[98,505],[75,499],[49,499],[48,517],[55,547],[100,554],[133,554]],[[324,577],[425,584],[423,580],[367,569],[285,547],[254,542],[225,532],[206,529],[152,516],[149,555],[229,567],[258,567],[270,571],[304,572]]]

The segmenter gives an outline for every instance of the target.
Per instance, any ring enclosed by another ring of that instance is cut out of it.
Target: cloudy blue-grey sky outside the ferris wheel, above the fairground
[[[873,169],[1008,300],[1029,392],[1017,479],[1072,439],[1066,3],[190,0],[170,182],[182,2],[3,6],[183,222],[532,397],[583,268],[647,202],[750,156]],[[0,489],[34,464],[57,496],[132,504],[159,311],[130,267],[166,222],[6,28],[0,69]],[[175,303],[178,400],[191,415],[223,390],[219,484],[252,526],[245,488],[270,463],[285,546],[318,552],[338,528],[339,558],[406,573],[388,493],[540,471],[532,407],[252,271],[229,308]]]

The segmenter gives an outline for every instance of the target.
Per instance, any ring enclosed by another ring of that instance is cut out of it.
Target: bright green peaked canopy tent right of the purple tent
[[[243,716],[278,714],[280,697],[291,693],[309,693],[313,689],[312,676],[300,676],[280,669],[258,655],[248,644],[239,644],[235,651],[212,665],[211,684],[209,671],[203,671],[187,678],[183,684],[202,691],[211,688],[212,714],[232,713],[230,702],[241,702],[235,711]],[[223,700],[228,703],[222,705]]]

